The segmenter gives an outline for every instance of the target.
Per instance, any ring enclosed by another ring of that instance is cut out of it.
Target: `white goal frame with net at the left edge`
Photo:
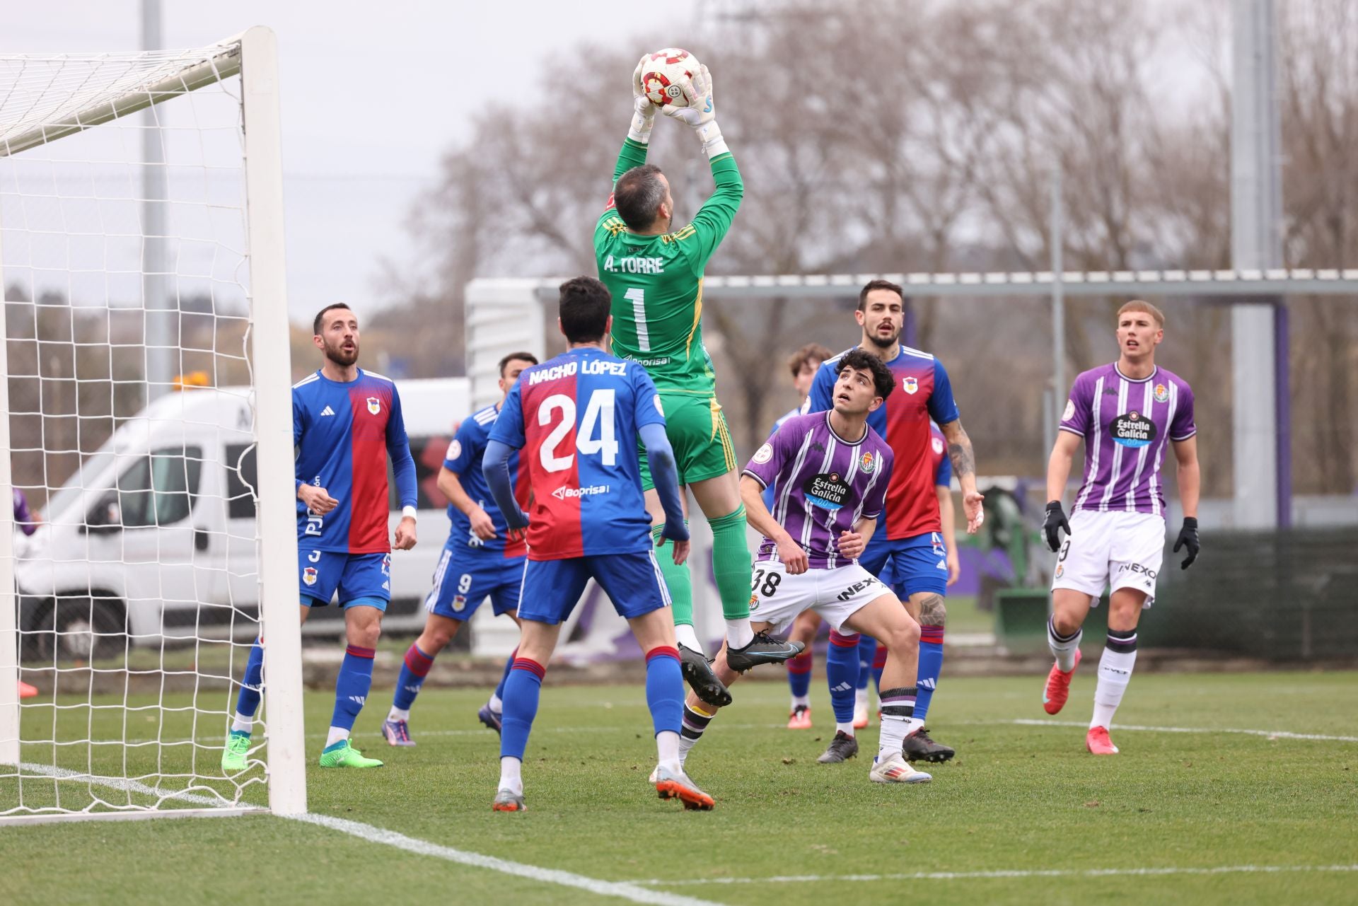
[[[276,72],[0,56],[0,820],[306,808]]]

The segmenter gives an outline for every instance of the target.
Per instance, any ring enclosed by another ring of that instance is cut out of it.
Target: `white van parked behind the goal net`
[[[448,378],[397,387],[420,484],[420,543],[392,557],[392,602],[383,622],[418,630],[448,532],[435,479],[469,413],[470,386]],[[24,660],[49,660],[53,648],[64,659],[90,659],[118,653],[129,640],[149,645],[257,632],[249,394],[246,387],[187,387],[162,397],[80,463],[48,501],[37,532],[15,538]],[[394,530],[394,492],[392,509]],[[340,617],[325,609],[306,630],[341,634]]]

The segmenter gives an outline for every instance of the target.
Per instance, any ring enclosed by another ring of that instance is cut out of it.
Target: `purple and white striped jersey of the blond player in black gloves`
[[[1157,367],[1133,380],[1116,363],[1078,378],[1061,414],[1061,429],[1085,439],[1085,481],[1077,509],[1164,516],[1160,462],[1171,440],[1198,433],[1188,382]]]

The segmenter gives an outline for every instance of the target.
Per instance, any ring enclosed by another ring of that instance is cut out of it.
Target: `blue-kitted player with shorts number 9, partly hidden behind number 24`
[[[439,470],[439,490],[448,499],[448,520],[452,530],[433,570],[433,588],[425,596],[424,632],[406,651],[397,678],[397,691],[391,710],[382,724],[382,735],[391,746],[414,746],[410,739],[410,706],[424,686],[433,659],[471,619],[488,596],[496,615],[508,615],[519,622],[519,587],[523,584],[523,538],[509,538],[505,518],[490,497],[490,488],[481,471],[481,458],[486,452],[490,429],[494,428],[504,397],[519,380],[519,372],[538,364],[528,352],[512,352],[500,360],[500,402],[474,412],[458,427],[448,444],[448,452]],[[519,470],[519,458],[509,460],[515,475],[515,496],[528,500],[527,473]],[[504,678],[513,666],[513,655],[505,662],[500,685],[490,701],[477,712],[477,719],[500,732],[500,709]]]

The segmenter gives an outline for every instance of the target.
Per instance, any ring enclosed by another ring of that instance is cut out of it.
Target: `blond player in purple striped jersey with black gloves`
[[[1047,546],[1058,550],[1051,580],[1047,644],[1057,663],[1047,675],[1043,708],[1055,714],[1070,695],[1080,663],[1081,626],[1104,587],[1108,641],[1099,662],[1095,714],[1085,747],[1115,755],[1108,738],[1112,716],[1137,663],[1137,622],[1156,599],[1156,576],[1165,549],[1165,492],[1160,462],[1173,444],[1179,462],[1179,500],[1184,523],[1175,553],[1188,549],[1181,566],[1198,558],[1198,427],[1188,383],[1156,365],[1156,346],[1165,337],[1165,316],[1148,302],[1128,302],[1118,311],[1120,355],[1111,365],[1081,374],[1061,416],[1061,432],[1047,463]],[[1085,444],[1085,479],[1070,519],[1061,494],[1076,450]],[[1069,538],[1061,543],[1061,530]]]

